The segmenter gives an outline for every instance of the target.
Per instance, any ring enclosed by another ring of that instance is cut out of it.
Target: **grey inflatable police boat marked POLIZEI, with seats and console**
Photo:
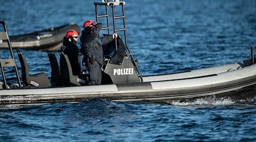
[[[142,76],[137,60],[126,39],[125,2],[95,2],[96,19],[109,14],[98,15],[98,6],[111,7],[113,19],[123,19],[123,28],[117,29],[113,22],[114,32],[124,33],[124,42],[118,37],[104,47],[105,65],[102,66],[102,85],[88,86],[88,74],[73,75],[67,55],[59,51],[63,58],[63,73],[60,73],[56,55],[47,51],[51,63],[51,80],[45,73],[29,74],[26,56],[18,52],[22,67],[22,82],[13,56],[11,44],[10,59],[0,59],[2,81],[0,85],[0,106],[34,105],[57,102],[80,102],[87,99],[108,99],[112,101],[186,101],[202,97],[234,97],[254,98],[256,95],[256,64],[254,64],[254,48],[251,47],[251,59],[191,70],[189,72],[163,74],[156,76]],[[115,16],[115,6],[122,6],[122,16]],[[2,21],[3,27],[5,23]],[[110,33],[109,24],[103,29]],[[2,40],[10,43],[6,32],[0,32]],[[5,67],[13,67],[18,83],[8,83],[5,77]]]

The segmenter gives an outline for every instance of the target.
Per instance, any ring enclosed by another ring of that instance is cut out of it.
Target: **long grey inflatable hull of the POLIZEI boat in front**
[[[144,100],[170,102],[185,101],[212,95],[216,97],[250,99],[255,97],[256,94],[255,69],[256,64],[228,72],[190,78],[175,78],[175,76],[180,76],[180,74],[168,74],[164,75],[169,77],[166,80],[130,83],[126,85],[7,89],[0,90],[0,105],[15,106],[56,102],[80,102],[94,98],[123,102]],[[205,71],[203,70],[201,72]],[[152,77],[148,76],[144,78],[145,80],[152,80]],[[159,77],[154,76],[154,78]]]

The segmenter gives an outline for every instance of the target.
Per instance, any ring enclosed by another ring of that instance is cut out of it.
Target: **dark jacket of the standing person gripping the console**
[[[86,28],[82,31],[82,35],[80,37],[81,40],[81,49],[82,54],[85,58],[89,55],[94,56],[95,60],[103,65],[103,49],[102,45],[108,44],[113,41],[112,35],[107,35],[100,37],[100,30],[102,28],[102,24],[98,23],[93,28]]]

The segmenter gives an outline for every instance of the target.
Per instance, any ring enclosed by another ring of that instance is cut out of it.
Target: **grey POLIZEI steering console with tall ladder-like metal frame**
[[[118,33],[118,35],[122,32],[124,36],[124,43],[119,36],[117,39],[115,39],[112,45],[108,45],[112,47],[106,47],[112,49],[114,55],[106,57],[106,65],[103,69],[103,83],[111,82],[114,84],[127,84],[134,82],[143,82],[141,72],[137,65],[137,60],[134,59],[133,53],[131,53],[130,47],[127,44],[125,2],[117,0],[102,0],[101,2],[94,2],[94,5],[96,9],[97,23],[101,23],[100,20],[102,19],[107,21],[106,27],[102,27],[102,30],[108,30],[109,35],[111,30],[113,30],[113,33]],[[99,14],[100,7],[104,7],[103,10],[105,11],[105,14]],[[115,7],[121,7],[121,14],[115,14]],[[109,9],[112,9],[111,13],[109,13]],[[112,18],[113,20],[112,26],[110,26],[110,18]],[[119,24],[121,25],[117,26],[116,21],[118,19]]]

